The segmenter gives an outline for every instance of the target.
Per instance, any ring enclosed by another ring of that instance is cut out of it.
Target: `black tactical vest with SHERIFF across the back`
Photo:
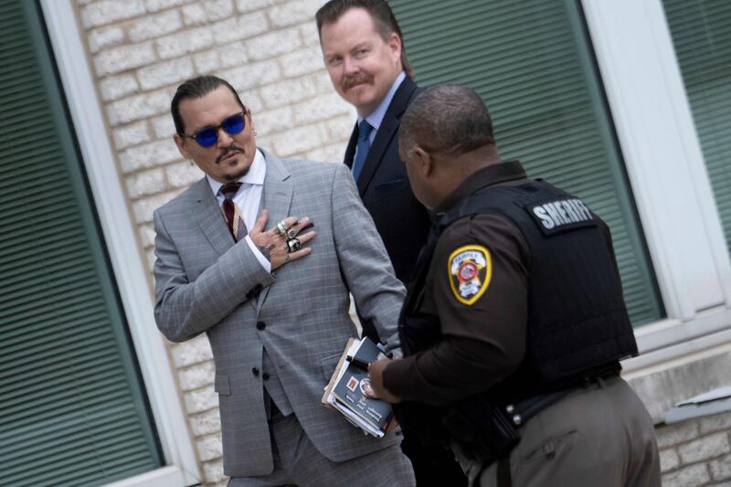
[[[405,355],[440,341],[435,316],[419,315],[418,300],[437,240],[454,221],[474,215],[512,220],[528,244],[528,316],[523,364],[488,391],[493,403],[576,385],[637,355],[620,278],[595,216],[575,196],[545,181],[484,187],[432,227],[408,287],[399,320]],[[468,399],[470,400],[470,399]]]

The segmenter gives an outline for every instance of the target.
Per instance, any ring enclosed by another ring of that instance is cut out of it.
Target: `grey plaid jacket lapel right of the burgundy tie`
[[[260,149],[261,150],[261,149]],[[267,175],[264,177],[264,188],[261,194],[260,212],[266,208],[269,219],[265,228],[271,228],[282,219],[289,217],[291,206],[292,184],[289,172],[281,164],[281,160],[266,151],[261,151],[267,161]],[[228,229],[227,229],[228,231]],[[257,301],[257,312],[269,294],[270,286],[264,288]]]

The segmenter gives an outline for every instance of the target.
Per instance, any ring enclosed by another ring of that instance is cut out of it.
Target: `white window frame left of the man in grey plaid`
[[[138,230],[122,193],[74,7],[71,0],[41,0],[40,5],[167,464],[113,485],[195,484],[202,479],[193,437],[175,386],[175,367],[154,323],[150,283],[135,239]]]

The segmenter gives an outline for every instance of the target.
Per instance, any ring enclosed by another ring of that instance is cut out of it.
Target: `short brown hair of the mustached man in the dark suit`
[[[404,36],[401,34],[401,27],[398,26],[396,16],[393,10],[388,6],[386,0],[330,0],[330,2],[320,7],[314,18],[317,21],[317,33],[320,40],[323,38],[323,25],[334,24],[345,12],[351,8],[363,8],[373,19],[373,25],[381,35],[383,40],[387,41],[391,34],[396,33],[401,39],[401,67],[406,71],[408,76],[414,76],[414,69],[408,62],[406,56],[406,46],[404,46]]]

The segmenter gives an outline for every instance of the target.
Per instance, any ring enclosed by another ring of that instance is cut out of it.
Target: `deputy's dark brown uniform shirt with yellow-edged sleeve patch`
[[[492,185],[528,182],[518,161],[493,164],[468,177],[435,210],[437,215]],[[609,239],[609,229],[601,225]],[[475,215],[441,234],[418,314],[436,316],[442,340],[389,364],[384,386],[405,400],[447,406],[489,389],[523,362],[530,249],[503,216]]]

